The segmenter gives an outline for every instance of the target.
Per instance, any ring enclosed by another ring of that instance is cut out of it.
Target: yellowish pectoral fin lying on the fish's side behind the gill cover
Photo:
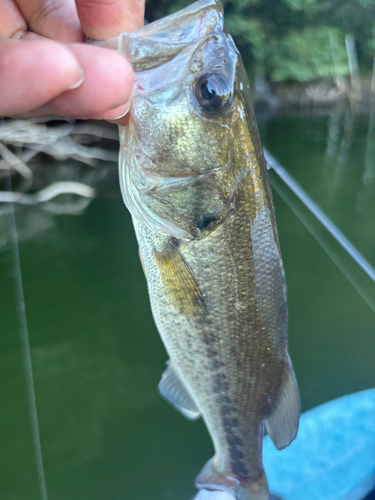
[[[203,296],[176,243],[171,239],[163,252],[154,250],[154,254],[169,302],[188,320],[202,321],[206,315]]]

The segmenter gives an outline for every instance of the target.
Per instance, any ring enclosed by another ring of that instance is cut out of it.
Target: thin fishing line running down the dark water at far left
[[[12,192],[12,180],[10,172],[6,176],[6,190]],[[41,500],[48,500],[46,478],[44,473],[42,446],[40,442],[38,413],[36,408],[35,387],[33,377],[33,367],[31,361],[29,331],[27,326],[25,296],[22,283],[21,262],[17,238],[16,215],[14,204],[9,204],[9,222],[10,222],[10,242],[12,253],[12,264],[14,270],[14,289],[16,298],[16,310],[18,311],[18,327],[21,340],[22,360],[26,377],[27,403],[30,413],[31,432],[35,454],[36,469],[38,474],[38,483]]]

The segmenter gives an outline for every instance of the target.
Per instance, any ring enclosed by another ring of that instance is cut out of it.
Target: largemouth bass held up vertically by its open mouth
[[[159,391],[212,438],[197,488],[269,500],[264,424],[276,448],[288,446],[300,397],[244,65],[218,0],[122,34],[119,50],[135,71],[120,187],[169,355]]]

